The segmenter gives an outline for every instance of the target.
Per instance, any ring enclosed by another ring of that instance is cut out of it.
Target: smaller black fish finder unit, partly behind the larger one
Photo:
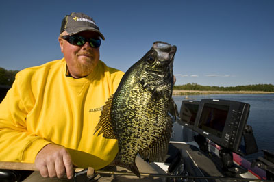
[[[181,120],[178,120],[180,125],[188,127],[193,130],[195,125],[195,119],[198,113],[200,101],[183,100],[179,116]]]

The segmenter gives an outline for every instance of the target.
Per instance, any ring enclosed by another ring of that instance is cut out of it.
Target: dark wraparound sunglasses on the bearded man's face
[[[84,38],[82,36],[62,36],[64,40],[68,41],[70,44],[77,45],[77,46],[83,46],[86,44],[86,42],[90,43],[90,47],[100,47],[101,45],[101,39],[99,38]]]

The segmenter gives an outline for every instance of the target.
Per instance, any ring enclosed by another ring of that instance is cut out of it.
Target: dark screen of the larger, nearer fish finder
[[[229,106],[205,103],[198,127],[221,138]]]

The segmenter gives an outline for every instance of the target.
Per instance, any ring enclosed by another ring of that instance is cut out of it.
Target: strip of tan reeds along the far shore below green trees
[[[201,94],[274,94],[262,91],[203,91],[203,90],[173,90],[173,95],[201,95]]]

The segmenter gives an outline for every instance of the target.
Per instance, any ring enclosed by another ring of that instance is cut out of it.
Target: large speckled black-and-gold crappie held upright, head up
[[[179,115],[172,99],[173,60],[177,48],[154,42],[141,60],[123,75],[103,107],[95,133],[118,140],[119,152],[110,165],[127,168],[140,177],[136,155],[162,161],[172,132],[169,113]]]

